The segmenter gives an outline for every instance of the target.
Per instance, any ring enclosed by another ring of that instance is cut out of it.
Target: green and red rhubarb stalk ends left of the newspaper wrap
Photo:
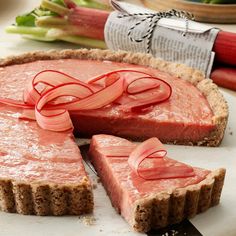
[[[40,8],[20,16],[23,17],[20,24],[17,22],[17,25],[7,27],[6,32],[21,34],[26,38],[40,41],[63,40],[86,47],[106,48],[103,30],[110,12],[79,7],[70,0],[65,0],[65,2],[68,6],[65,3],[60,5],[43,0]],[[86,7],[102,8],[103,5],[93,0],[76,0],[75,2]],[[29,20],[32,21],[31,24]]]

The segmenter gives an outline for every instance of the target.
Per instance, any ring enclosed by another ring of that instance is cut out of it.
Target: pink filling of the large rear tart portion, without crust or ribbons
[[[86,81],[92,76],[121,68],[140,68],[165,80],[172,86],[171,98],[144,113],[123,112],[119,110],[118,105],[71,113],[76,133],[107,133],[141,139],[157,136],[163,142],[197,142],[214,130],[213,113],[206,98],[196,87],[158,70],[124,63],[64,59],[1,68],[1,97],[22,100],[25,84],[31,81],[36,73],[46,69],[59,70]]]

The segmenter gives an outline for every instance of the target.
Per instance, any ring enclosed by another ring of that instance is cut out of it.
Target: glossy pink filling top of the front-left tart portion
[[[0,105],[0,179],[80,183],[87,175],[72,134],[43,130],[34,121],[19,120],[20,114]]]

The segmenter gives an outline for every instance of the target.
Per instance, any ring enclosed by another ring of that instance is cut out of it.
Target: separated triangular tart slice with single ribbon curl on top
[[[113,206],[136,231],[178,223],[219,203],[224,169],[191,167],[165,154],[156,138],[137,145],[92,137],[91,161]]]

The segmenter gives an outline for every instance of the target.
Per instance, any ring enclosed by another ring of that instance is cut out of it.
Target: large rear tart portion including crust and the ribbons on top
[[[226,101],[201,72],[151,55],[34,52],[0,61],[0,98],[43,129],[218,146]]]

